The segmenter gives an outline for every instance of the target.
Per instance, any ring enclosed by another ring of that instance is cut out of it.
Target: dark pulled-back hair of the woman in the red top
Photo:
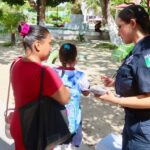
[[[18,26],[18,31],[21,33],[22,26]],[[49,31],[43,26],[29,25],[29,32],[23,36],[23,46],[25,49],[30,48],[32,50],[32,44],[36,40],[41,41],[47,37]]]

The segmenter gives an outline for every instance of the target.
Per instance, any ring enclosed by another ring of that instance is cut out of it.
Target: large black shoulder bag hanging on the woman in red
[[[43,78],[44,68],[39,98],[19,108],[26,150],[50,150],[71,138],[66,108],[53,98],[43,96]]]

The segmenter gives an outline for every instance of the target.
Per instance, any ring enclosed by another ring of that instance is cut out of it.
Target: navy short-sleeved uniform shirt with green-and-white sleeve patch
[[[150,36],[140,40],[125,58],[117,71],[115,89],[123,97],[150,93]]]

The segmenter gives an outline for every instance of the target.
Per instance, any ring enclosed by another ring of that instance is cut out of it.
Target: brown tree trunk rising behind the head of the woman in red
[[[40,0],[39,25],[45,25],[45,10],[47,0]]]

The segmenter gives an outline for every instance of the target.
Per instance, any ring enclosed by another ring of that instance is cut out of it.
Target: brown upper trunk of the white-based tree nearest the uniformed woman
[[[108,17],[110,16],[110,0],[100,0],[100,5],[102,9],[102,24],[105,25],[108,23]]]

